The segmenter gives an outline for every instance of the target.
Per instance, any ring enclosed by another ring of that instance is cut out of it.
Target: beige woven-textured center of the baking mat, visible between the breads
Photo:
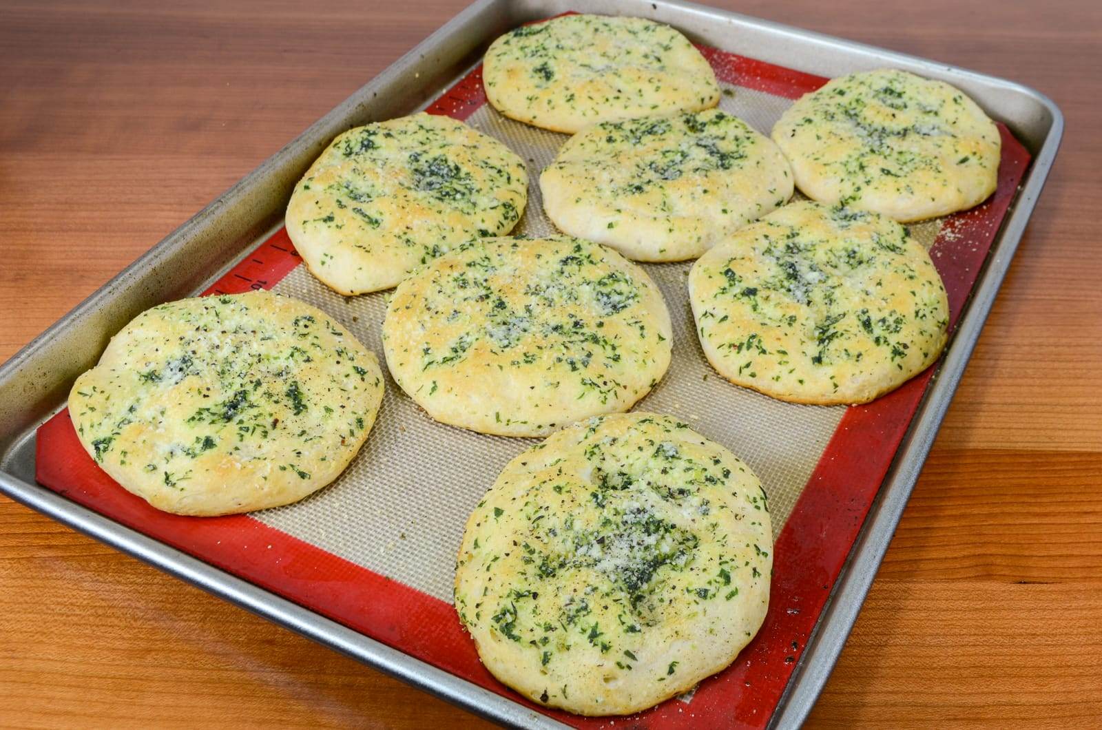
[[[771,94],[724,85],[720,108],[768,133],[790,104],[790,99]],[[554,233],[543,215],[538,180],[568,137],[507,119],[489,105],[483,105],[467,124],[501,140],[527,161],[531,180],[528,206],[514,233]],[[910,230],[929,249],[940,227],[941,222],[933,221]],[[676,416],[749,464],[769,495],[776,536],[845,407],[786,404],[716,375],[701,352],[689,307],[685,279],[691,264],[644,265],[670,310],[673,359],[666,377],[636,410]],[[301,265],[273,291],[328,312],[385,362],[380,331],[391,292],[342,297]],[[252,516],[451,602],[455,555],[467,515],[501,468],[534,442],[436,423],[388,374],[375,428],[341,479],[302,502]]]

